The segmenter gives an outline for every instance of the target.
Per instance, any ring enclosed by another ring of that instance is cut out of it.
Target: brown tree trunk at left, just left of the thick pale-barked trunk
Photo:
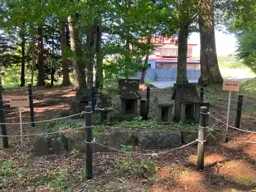
[[[67,40],[66,40],[66,28],[63,20],[59,22],[59,37],[60,37],[60,47],[61,47],[61,62],[62,62],[62,86],[70,86],[69,78],[69,59],[65,54],[67,50]]]

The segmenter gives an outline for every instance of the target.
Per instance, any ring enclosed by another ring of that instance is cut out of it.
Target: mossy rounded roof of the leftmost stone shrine
[[[110,95],[100,94],[97,97],[95,111],[113,111],[113,101]]]

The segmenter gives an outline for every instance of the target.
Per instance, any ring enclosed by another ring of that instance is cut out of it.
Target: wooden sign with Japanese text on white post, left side
[[[20,146],[23,148],[22,108],[29,106],[29,96],[10,96],[10,107],[19,108]]]

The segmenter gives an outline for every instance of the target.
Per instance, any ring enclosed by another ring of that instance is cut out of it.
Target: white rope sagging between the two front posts
[[[126,151],[118,150],[117,148],[109,147],[109,146],[103,145],[103,144],[101,144],[101,143],[98,143],[98,142],[96,141],[95,137],[93,138],[93,140],[92,140],[91,142],[87,142],[87,141],[84,141],[84,142],[89,143],[89,144],[90,144],[90,143],[92,143],[92,144],[96,143],[96,144],[98,144],[98,145],[101,145],[101,146],[103,146],[103,147],[109,148],[109,149],[111,149],[111,150],[114,150],[114,151],[117,151],[117,152],[126,153],[126,154],[145,155],[145,156],[157,157],[158,155],[161,155],[161,154],[165,154],[165,153],[169,153],[169,152],[174,152],[174,151],[176,151],[176,150],[180,150],[181,148],[184,148],[184,147],[186,147],[186,146],[188,146],[188,145],[191,145],[191,144],[193,144],[193,143],[195,143],[195,142],[201,142],[201,143],[203,143],[203,142],[205,142],[205,141],[201,141],[201,140],[196,139],[196,140],[193,141],[193,142],[190,142],[190,143],[185,144],[185,145],[183,145],[183,146],[180,146],[180,147],[178,147],[178,148],[174,148],[173,150],[169,150],[169,151],[166,151],[166,152],[160,152],[160,153],[152,153],[152,154],[148,154],[148,153],[147,153],[147,154],[143,154],[143,153],[133,153],[133,152],[126,152]]]

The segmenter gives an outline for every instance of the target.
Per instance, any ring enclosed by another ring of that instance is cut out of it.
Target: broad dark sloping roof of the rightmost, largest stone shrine
[[[197,93],[197,87],[192,83],[174,83],[173,100],[188,104],[203,103]]]

